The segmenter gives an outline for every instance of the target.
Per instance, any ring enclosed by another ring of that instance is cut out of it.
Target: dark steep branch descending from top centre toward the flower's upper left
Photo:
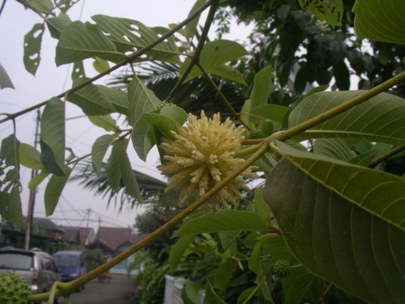
[[[172,91],[170,91],[169,96],[165,100],[166,102],[170,102],[170,100],[173,99],[174,95],[176,95],[176,92],[179,90],[180,86],[186,80],[186,78],[187,78],[188,74],[190,73],[191,69],[193,68],[194,64],[199,62],[199,55],[201,54],[201,51],[203,50],[204,44],[206,42],[208,31],[210,30],[211,23],[214,20],[214,15],[215,15],[215,11],[217,10],[218,3],[219,3],[219,0],[212,1],[212,6],[210,8],[210,11],[208,12],[208,16],[206,19],[206,23],[204,24],[203,32],[201,32],[201,35],[198,40],[198,45],[195,49],[194,55],[191,57],[190,64],[187,66],[187,69],[185,70],[182,77],[175,85],[175,87],[172,89]]]

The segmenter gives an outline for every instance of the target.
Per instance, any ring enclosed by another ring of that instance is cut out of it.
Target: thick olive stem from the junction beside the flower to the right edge
[[[335,106],[334,108],[323,112],[301,124],[298,124],[286,131],[281,131],[277,134],[273,134],[271,136],[271,140],[280,140],[280,141],[285,141],[287,139],[290,139],[291,137],[300,134],[309,128],[312,128],[322,122],[325,122],[338,114],[352,108],[353,106],[356,106],[364,101],[369,100],[370,98],[388,90],[389,88],[392,88],[393,86],[397,85],[398,83],[402,82],[405,80],[405,71],[399,73],[398,75],[394,76],[393,78],[387,80],[386,82],[383,82],[382,84],[374,87],[373,89],[368,90],[367,92],[353,97],[342,104]]]

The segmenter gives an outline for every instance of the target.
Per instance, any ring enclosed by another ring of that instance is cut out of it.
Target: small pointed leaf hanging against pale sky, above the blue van
[[[66,185],[71,169],[66,166],[65,176],[52,175],[49,179],[47,187],[45,188],[45,213],[46,216],[50,216],[54,213],[56,205],[58,204],[59,198],[62,194],[63,188]]]

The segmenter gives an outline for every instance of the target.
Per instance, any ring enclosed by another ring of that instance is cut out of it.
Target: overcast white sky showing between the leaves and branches
[[[91,21],[91,16],[105,14],[114,17],[124,17],[141,21],[147,26],[168,26],[169,23],[177,23],[185,19],[189,10],[194,4],[194,0],[81,0],[68,15],[72,20],[78,20],[80,10],[83,7],[81,21]],[[200,23],[204,23],[206,12],[200,18]],[[62,65],[56,67],[55,47],[57,40],[53,39],[48,30],[44,33],[41,49],[41,63],[36,71],[35,77],[28,73],[23,64],[23,39],[34,23],[42,22],[41,18],[30,10],[25,10],[23,6],[15,1],[8,1],[0,16],[0,63],[9,74],[15,90],[0,90],[0,112],[16,112],[38,102],[48,100],[50,97],[58,95],[71,87],[70,72],[71,67]],[[225,39],[244,41],[249,35],[251,27],[236,26],[233,24],[231,33],[224,36]],[[214,37],[214,29],[210,30],[210,37]],[[97,72],[93,69],[91,61],[86,64],[86,74],[88,77],[94,76]],[[69,70],[69,71],[68,71]],[[68,74],[67,74],[68,71]],[[67,75],[67,82],[65,83]],[[108,76],[99,80],[99,84],[105,84]],[[66,118],[83,115],[82,110],[77,106],[67,103]],[[17,138],[21,142],[33,145],[35,111],[29,112],[16,120]],[[12,133],[10,122],[0,125],[0,140]],[[105,131],[92,125],[87,118],[69,120],[66,122],[66,147],[71,147],[76,155],[81,156],[90,153],[94,140],[105,134]],[[39,147],[38,147],[39,150]],[[158,162],[156,153],[151,152],[147,162],[138,159],[132,145],[129,145],[128,154],[133,168],[162,179],[155,169]],[[109,151],[107,152],[109,155]],[[23,213],[26,214],[28,206],[27,184],[30,179],[30,170],[21,167],[20,176],[23,184],[21,193]],[[74,174],[74,172],[72,173]],[[34,216],[44,217],[44,191],[46,181],[37,188]],[[91,208],[101,214],[101,225],[130,225],[134,224],[134,218],[142,209],[124,210],[117,214],[117,209],[110,206],[108,210],[107,200],[101,197],[94,197],[93,193],[85,191],[77,183],[68,183],[62,193],[62,198],[56,207],[55,213],[50,218],[58,224],[86,226],[85,210]],[[63,212],[62,212],[63,211]],[[97,227],[99,214],[92,213],[89,226]],[[70,221],[57,220],[56,218],[68,218]],[[79,221],[75,221],[77,219]]]

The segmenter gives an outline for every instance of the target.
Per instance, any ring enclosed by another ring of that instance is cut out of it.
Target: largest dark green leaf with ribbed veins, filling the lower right
[[[269,174],[264,199],[297,260],[367,302],[401,303],[405,181],[281,148],[286,159]]]

